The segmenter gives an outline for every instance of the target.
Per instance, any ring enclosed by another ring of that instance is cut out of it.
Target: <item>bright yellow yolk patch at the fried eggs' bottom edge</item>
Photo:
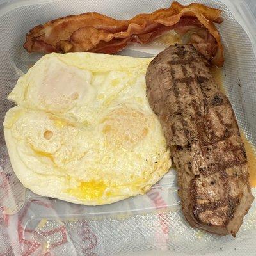
[[[104,182],[81,182],[76,188],[68,189],[67,193],[81,200],[97,200],[102,198],[107,186]]]

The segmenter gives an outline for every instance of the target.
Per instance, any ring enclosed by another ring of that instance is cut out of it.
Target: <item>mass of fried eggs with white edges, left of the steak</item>
[[[47,54],[8,96],[13,170],[34,193],[85,205],[143,194],[171,161],[148,105],[150,58]]]

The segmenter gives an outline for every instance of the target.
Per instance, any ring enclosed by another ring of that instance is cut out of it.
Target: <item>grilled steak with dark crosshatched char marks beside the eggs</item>
[[[146,84],[177,167],[186,220],[235,236],[253,202],[246,152],[207,61],[192,45],[170,46],[148,66]]]

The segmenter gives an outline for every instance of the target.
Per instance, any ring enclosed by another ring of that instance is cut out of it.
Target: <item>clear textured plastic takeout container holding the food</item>
[[[241,130],[256,146],[256,22],[242,1],[196,2],[223,10],[224,22],[218,26],[225,47],[223,86]],[[137,13],[167,8],[170,3],[166,0],[2,3],[0,123],[13,106],[6,96],[17,79],[38,59],[38,55],[28,54],[22,47],[24,36],[33,26],[83,12],[129,19]],[[163,49],[163,44],[132,45],[120,54],[152,56]],[[15,177],[2,125],[0,143],[0,255],[256,255],[255,203],[234,239],[209,234],[186,223],[180,211],[173,170],[146,195],[111,205],[89,207],[43,198],[24,189]],[[256,195],[256,189],[253,194]]]

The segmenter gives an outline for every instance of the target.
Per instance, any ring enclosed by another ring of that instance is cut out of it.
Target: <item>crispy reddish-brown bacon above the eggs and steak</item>
[[[100,13],[83,13],[36,26],[26,35],[28,52],[104,52],[114,54],[128,42],[146,44],[174,29],[181,36],[192,31],[187,43],[195,45],[215,65],[223,65],[223,46],[214,23],[221,23],[221,10],[192,3],[173,2],[170,8],[115,20]]]

